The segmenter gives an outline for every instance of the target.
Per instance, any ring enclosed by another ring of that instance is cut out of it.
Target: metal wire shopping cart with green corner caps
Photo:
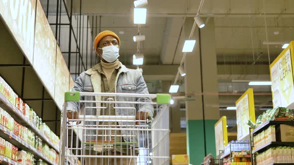
[[[169,94],[66,92],[59,165],[169,165],[170,98]],[[65,109],[73,102],[81,109],[78,119],[67,118]],[[142,105],[152,105],[153,118],[136,120]]]

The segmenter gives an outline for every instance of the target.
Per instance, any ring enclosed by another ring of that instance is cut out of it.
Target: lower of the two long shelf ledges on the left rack
[[[5,141],[8,141],[12,145],[16,146],[17,148],[23,149],[25,151],[30,152],[34,155],[36,159],[42,159],[44,162],[55,165],[52,163],[48,158],[46,158],[41,152],[36,150],[33,146],[27,144],[22,139],[20,139],[18,136],[13,134],[12,131],[7,130],[4,126],[0,125],[0,137],[5,139]]]

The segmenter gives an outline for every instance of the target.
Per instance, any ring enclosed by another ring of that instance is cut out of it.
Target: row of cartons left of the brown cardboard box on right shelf
[[[271,125],[266,130],[253,137],[254,147],[259,148],[267,143],[276,142],[276,128]]]

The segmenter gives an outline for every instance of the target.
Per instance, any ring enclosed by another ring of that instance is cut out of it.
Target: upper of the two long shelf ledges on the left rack
[[[59,146],[54,146],[52,142],[34,126],[23,114],[14,106],[8,99],[0,93],[0,107],[4,109],[11,117],[17,121],[22,126],[29,128],[32,132],[35,133],[43,142],[45,142],[50,148],[54,149],[57,153],[59,153]]]

